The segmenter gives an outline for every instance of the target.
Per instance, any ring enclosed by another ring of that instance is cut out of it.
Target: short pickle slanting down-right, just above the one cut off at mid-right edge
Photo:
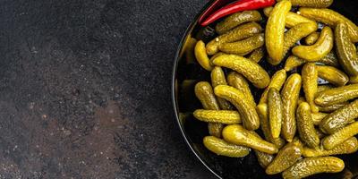
[[[333,66],[317,65],[316,68],[321,79],[324,79],[338,87],[345,86],[345,84],[349,81],[349,77],[345,74],[345,72],[342,72]]]

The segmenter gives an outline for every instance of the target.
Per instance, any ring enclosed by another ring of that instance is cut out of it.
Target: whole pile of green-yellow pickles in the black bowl
[[[283,178],[345,168],[331,156],[358,150],[358,27],[330,4],[281,0],[234,13],[217,23],[216,38],[195,44],[211,72],[195,85],[202,109],[193,112],[208,123],[207,149],[230,158],[252,150],[268,175]],[[270,76],[263,60],[282,69]],[[260,101],[250,86],[263,91]]]

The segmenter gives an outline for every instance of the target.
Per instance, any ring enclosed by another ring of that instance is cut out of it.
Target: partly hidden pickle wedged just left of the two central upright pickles
[[[278,149],[281,149],[285,145],[285,140],[282,138],[274,139],[271,134],[268,123],[268,105],[266,103],[261,103],[256,107],[256,111],[260,117],[260,128],[265,136],[265,140],[275,144]]]

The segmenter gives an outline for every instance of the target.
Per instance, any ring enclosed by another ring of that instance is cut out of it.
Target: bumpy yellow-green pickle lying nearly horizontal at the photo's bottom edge
[[[344,168],[345,162],[340,158],[303,158],[282,173],[282,177],[284,179],[304,178],[320,173],[338,173]]]

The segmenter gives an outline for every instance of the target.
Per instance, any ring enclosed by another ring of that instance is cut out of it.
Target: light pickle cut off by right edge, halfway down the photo
[[[328,107],[346,102],[358,97],[358,84],[351,84],[335,89],[324,90],[317,94],[314,99],[317,105]]]

